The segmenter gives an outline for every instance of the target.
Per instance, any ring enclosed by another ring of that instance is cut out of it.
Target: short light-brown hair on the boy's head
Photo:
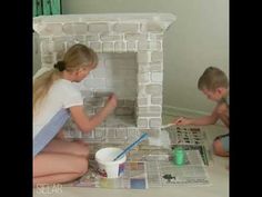
[[[198,88],[200,90],[208,89],[214,91],[216,88],[228,88],[229,80],[225,73],[215,67],[209,67],[199,78]]]

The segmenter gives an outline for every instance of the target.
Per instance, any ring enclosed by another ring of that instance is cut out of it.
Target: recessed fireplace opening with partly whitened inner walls
[[[98,53],[98,67],[81,82],[87,114],[97,114],[104,106],[108,96],[115,93],[118,106],[100,127],[135,127],[137,53],[103,52]]]

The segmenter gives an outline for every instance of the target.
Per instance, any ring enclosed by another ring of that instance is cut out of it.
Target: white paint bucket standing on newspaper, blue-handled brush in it
[[[123,150],[120,148],[102,148],[95,152],[95,160],[99,165],[99,174],[108,178],[118,178],[124,173],[127,156],[113,161]]]

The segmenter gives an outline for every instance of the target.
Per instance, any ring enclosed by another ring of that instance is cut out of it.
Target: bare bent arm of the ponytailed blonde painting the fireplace
[[[117,97],[110,96],[105,106],[100,109],[94,116],[89,117],[84,112],[83,106],[74,106],[70,108],[72,119],[80,130],[89,132],[99,126],[117,107]]]

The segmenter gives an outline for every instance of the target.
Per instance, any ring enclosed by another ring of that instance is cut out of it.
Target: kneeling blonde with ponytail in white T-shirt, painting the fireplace
[[[79,129],[91,131],[117,107],[110,96],[93,117],[84,114],[81,92],[72,82],[80,82],[97,67],[97,53],[83,46],[72,46],[62,61],[33,81],[33,185],[67,183],[88,170],[88,147],[58,138],[62,126],[72,117]]]

